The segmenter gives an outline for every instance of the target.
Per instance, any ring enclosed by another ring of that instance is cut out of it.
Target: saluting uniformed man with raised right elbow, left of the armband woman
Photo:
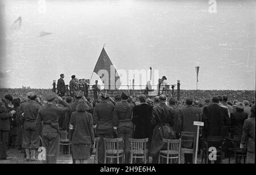
[[[59,100],[64,107],[58,107],[55,99]],[[46,148],[46,164],[56,164],[59,154],[59,114],[69,110],[68,104],[56,93],[49,92],[46,95],[47,105],[43,106],[36,118],[36,127],[39,135],[42,135],[43,147]]]

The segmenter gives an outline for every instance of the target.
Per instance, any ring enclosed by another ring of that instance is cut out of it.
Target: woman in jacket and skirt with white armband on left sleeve
[[[90,149],[94,144],[92,114],[86,112],[88,106],[85,100],[80,100],[77,112],[71,114],[69,125],[70,140],[72,141],[72,155],[76,164],[87,164]]]

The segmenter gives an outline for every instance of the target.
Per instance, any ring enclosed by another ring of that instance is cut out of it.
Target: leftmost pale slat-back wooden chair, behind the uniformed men
[[[119,149],[119,142],[123,142],[123,138],[103,138],[104,139],[104,149],[105,157],[104,164],[106,164],[106,158],[117,158],[117,164],[119,164],[119,158],[122,157],[122,163],[124,162],[124,152]]]

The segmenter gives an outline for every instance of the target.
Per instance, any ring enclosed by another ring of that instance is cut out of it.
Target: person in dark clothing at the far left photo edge
[[[13,100],[11,95],[5,95],[3,99],[0,99],[0,160],[11,159],[12,156],[7,156],[7,148],[9,144],[9,133],[11,129],[10,119],[16,112],[15,110],[9,110],[9,104]]]

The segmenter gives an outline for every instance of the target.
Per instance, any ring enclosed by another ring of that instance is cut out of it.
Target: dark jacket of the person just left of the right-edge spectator
[[[247,119],[248,114],[245,112],[232,112],[230,114],[230,124],[232,128],[233,135],[242,135],[243,132],[243,122]]]

